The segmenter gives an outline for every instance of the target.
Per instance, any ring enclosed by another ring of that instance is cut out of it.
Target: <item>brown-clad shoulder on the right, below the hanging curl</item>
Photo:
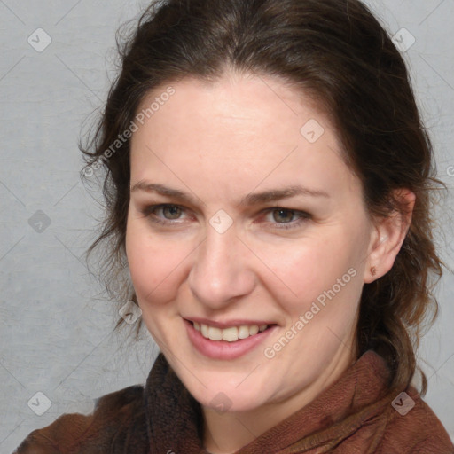
[[[454,454],[450,435],[413,387],[396,394],[389,405],[380,448],[380,454]]]

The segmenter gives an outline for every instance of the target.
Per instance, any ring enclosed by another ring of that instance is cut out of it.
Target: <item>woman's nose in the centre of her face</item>
[[[206,309],[219,310],[250,294],[256,284],[250,254],[233,226],[219,233],[208,225],[188,277],[195,299]]]

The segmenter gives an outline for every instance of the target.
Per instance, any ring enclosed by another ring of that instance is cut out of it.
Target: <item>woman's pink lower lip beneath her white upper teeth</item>
[[[184,320],[188,337],[192,345],[204,356],[213,359],[235,359],[239,356],[246,355],[248,352],[256,348],[262,340],[265,340],[275,328],[276,325],[257,333],[254,336],[249,336],[246,339],[239,339],[235,342],[227,340],[210,340],[202,336],[197,331],[191,322]]]

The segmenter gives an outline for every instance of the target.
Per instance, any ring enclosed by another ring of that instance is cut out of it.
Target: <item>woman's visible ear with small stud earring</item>
[[[387,217],[373,220],[374,231],[364,269],[366,284],[381,278],[391,270],[410,228],[416,196],[408,189],[395,190],[394,194],[395,199],[401,201],[403,211],[395,211]],[[375,272],[373,273],[372,270]]]

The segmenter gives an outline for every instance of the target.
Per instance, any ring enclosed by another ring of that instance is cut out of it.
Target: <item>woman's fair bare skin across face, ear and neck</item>
[[[131,139],[135,189],[126,251],[145,325],[202,406],[207,450],[229,453],[301,409],[356,361],[362,288],[390,270],[411,215],[371,219],[327,116],[284,82],[229,72],[216,82],[171,85],[175,95]],[[166,88],[153,90],[143,106]],[[315,143],[300,132],[310,119],[325,129]],[[139,189],[139,182],[186,192],[191,200]],[[250,193],[296,185],[328,197],[239,204]],[[414,195],[402,196],[412,207]],[[182,209],[153,210],[160,204]],[[233,222],[223,233],[209,223],[220,209]],[[264,348],[348,270],[355,277],[266,357]],[[278,327],[259,347],[223,361],[192,347],[184,327],[192,317],[259,318]],[[223,413],[212,403],[219,393],[231,405]]]

